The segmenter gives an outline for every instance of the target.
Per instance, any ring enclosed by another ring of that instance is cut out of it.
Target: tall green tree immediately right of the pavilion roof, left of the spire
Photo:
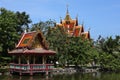
[[[61,66],[66,63],[67,55],[67,35],[60,27],[49,28],[46,39],[51,49],[57,52],[54,57],[54,63],[59,62]]]

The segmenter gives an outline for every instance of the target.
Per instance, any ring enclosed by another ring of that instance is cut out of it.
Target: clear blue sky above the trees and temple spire
[[[71,18],[78,15],[85,31],[90,28],[92,39],[120,35],[120,0],[0,0],[0,7],[29,14],[31,24],[49,19],[59,23],[67,5]]]

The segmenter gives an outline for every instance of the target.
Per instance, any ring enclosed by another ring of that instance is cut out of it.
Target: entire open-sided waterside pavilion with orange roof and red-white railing
[[[25,32],[16,49],[9,52],[10,55],[17,57],[13,63],[10,63],[10,73],[33,75],[46,72],[48,74],[54,65],[50,64],[47,57],[53,56],[55,53],[55,51],[48,49],[41,31]]]

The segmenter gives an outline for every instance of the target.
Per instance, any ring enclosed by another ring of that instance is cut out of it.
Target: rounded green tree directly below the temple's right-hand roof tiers
[[[94,51],[93,45],[90,40],[84,39],[84,37],[70,37],[68,49],[71,56],[69,60],[76,66],[86,65],[90,63],[91,59],[94,60],[91,54]]]

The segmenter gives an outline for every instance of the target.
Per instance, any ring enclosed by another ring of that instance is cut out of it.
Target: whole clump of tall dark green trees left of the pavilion
[[[23,26],[30,23],[29,15],[25,12],[13,12],[0,8],[0,61],[9,62],[7,57],[8,50],[15,48],[21,33],[24,31]]]

